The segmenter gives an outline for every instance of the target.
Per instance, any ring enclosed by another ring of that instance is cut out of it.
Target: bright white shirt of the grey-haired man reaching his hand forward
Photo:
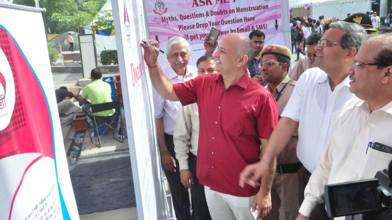
[[[329,143],[333,122],[339,109],[354,98],[348,77],[331,91],[327,74],[319,68],[303,72],[287,103],[282,117],[299,122],[297,156],[313,172]]]

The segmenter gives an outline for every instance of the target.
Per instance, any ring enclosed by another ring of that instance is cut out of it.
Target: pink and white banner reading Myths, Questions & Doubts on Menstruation
[[[218,40],[258,29],[266,35],[265,45],[285,45],[281,0],[146,0],[145,4],[150,37],[163,49],[171,37],[184,37],[191,44],[192,65],[204,55],[203,42],[212,27],[220,30]]]

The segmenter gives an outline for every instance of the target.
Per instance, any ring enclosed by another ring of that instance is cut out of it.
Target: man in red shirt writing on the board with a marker
[[[159,95],[182,105],[198,103],[197,173],[200,183],[205,185],[212,219],[253,220],[256,213],[251,208],[258,210],[257,219],[265,216],[271,209],[273,174],[262,179],[261,188],[238,185],[242,169],[260,160],[260,145],[267,143],[277,122],[275,99],[246,70],[254,54],[251,41],[241,34],[226,35],[214,53],[219,74],[176,84],[162,74],[158,53],[149,45],[159,47],[159,44],[156,41],[141,44]]]

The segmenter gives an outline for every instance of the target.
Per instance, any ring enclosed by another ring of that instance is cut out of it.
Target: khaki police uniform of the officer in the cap
[[[288,83],[285,87],[285,84]],[[279,118],[285,108],[291,93],[294,90],[296,81],[288,76],[273,90],[269,85],[266,88],[272,92],[275,99],[278,97],[277,106]],[[279,93],[281,95],[279,95]],[[285,150],[276,158],[277,165],[289,165],[298,163],[297,158],[298,133],[295,132]],[[271,188],[272,209],[263,220],[279,219],[279,208],[283,205],[283,210],[287,220],[294,220],[298,215],[298,174],[297,173],[275,173]]]

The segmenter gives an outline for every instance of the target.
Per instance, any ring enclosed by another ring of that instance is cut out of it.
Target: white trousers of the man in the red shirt
[[[213,191],[204,186],[208,210],[212,220],[255,220],[257,210],[251,212],[255,196],[238,197]]]

